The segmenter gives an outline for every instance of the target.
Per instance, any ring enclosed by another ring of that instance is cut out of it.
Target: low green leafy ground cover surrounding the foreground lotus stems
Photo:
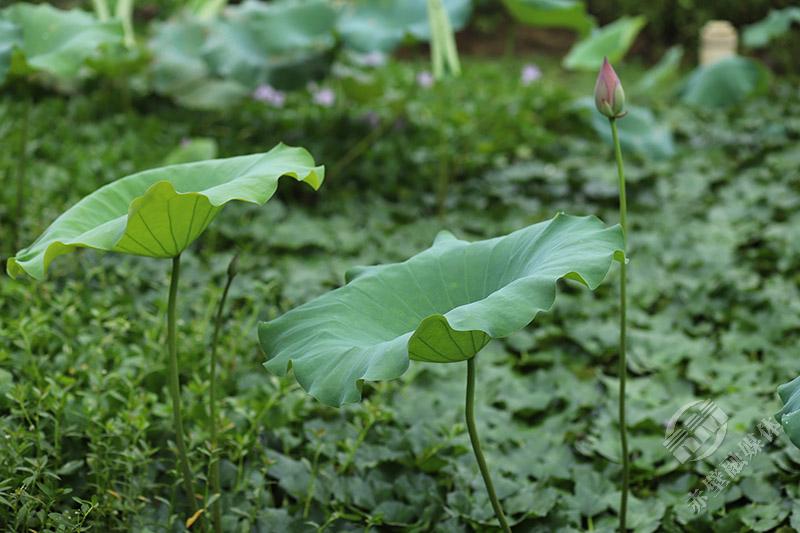
[[[501,62],[467,62],[465,73],[425,91],[410,67],[395,68],[387,85],[415,94],[371,105],[252,104],[223,115],[148,101],[117,112],[100,90],[34,106],[28,237],[99,184],[159,165],[184,137],[213,137],[222,156],[283,140],[328,165],[317,195],[286,187],[263,208],[231,206],[184,254],[185,418],[202,479],[210,323],[228,259],[247,243],[220,349],[226,530],[491,530],[463,424],[464,365],[412,363],[337,410],[268,374],[256,339],[258,320],[340,285],[353,265],[425,249],[442,228],[487,238],[559,210],[615,222],[610,149],[568,98],[588,94],[591,80],[545,69],[523,88],[519,65]],[[2,103],[4,146],[17,107]],[[656,107],[676,156],[627,165],[629,524],[800,527],[800,452],[785,437],[709,498],[708,513],[687,505],[798,373],[800,95],[779,83],[728,112]],[[12,171],[13,156],[0,152],[0,168]],[[13,194],[0,192],[2,235]],[[0,281],[0,524],[181,530],[163,377],[167,265],[91,251],[59,261],[46,282]],[[615,279],[596,293],[563,283],[551,313],[478,358],[484,451],[519,531],[616,526]],[[697,398],[728,413],[728,433],[711,457],[680,465],[664,424]]]

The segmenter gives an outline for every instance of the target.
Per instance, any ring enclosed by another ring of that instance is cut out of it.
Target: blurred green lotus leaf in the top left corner
[[[16,4],[3,10],[0,19],[15,24],[21,32],[18,49],[24,58],[24,70],[19,74],[42,71],[71,79],[101,47],[123,43],[119,21],[99,22],[77,9],[63,11],[47,4]]]

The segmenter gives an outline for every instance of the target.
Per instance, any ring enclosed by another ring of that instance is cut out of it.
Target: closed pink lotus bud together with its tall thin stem
[[[611,127],[611,137],[614,143],[614,157],[617,162],[617,175],[619,178],[619,224],[622,227],[622,236],[627,246],[628,239],[628,205],[625,196],[625,168],[622,163],[622,148],[617,132],[617,119],[625,116],[625,91],[622,83],[614,72],[614,68],[603,59],[597,83],[594,88],[594,102],[597,110],[608,118]],[[625,250],[627,253],[627,249]],[[619,268],[619,439],[622,448],[622,491],[620,492],[619,505],[619,530],[627,531],[626,516],[628,510],[628,485],[630,476],[630,458],[628,457],[628,434],[625,423],[625,378],[628,372],[626,358],[627,342],[627,260],[620,261]]]

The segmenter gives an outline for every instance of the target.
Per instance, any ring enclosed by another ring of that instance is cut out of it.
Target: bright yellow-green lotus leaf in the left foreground
[[[114,181],[56,219],[28,248],[8,260],[12,277],[44,278],[53,259],[75,248],[147,257],[185,250],[233,200],[263,204],[291,176],[317,189],[323,167],[302,148],[278,145],[264,154],[147,170]]]

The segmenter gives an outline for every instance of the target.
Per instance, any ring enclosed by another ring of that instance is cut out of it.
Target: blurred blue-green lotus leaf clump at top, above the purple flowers
[[[255,0],[214,20],[184,17],[156,28],[153,85],[188,107],[225,108],[269,84],[295,89],[323,77],[335,45],[325,0]]]

